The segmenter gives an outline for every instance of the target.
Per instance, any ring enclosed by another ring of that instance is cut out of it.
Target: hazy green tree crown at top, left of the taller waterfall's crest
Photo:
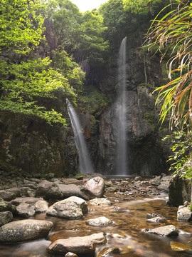
[[[60,0],[60,8],[51,18],[55,28],[58,46],[76,61],[87,61],[91,66],[104,62],[108,43],[104,40],[107,28],[97,11],[80,13],[78,7],[69,0]]]

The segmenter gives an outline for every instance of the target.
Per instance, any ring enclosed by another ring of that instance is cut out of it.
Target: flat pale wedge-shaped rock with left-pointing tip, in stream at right
[[[145,233],[154,233],[159,236],[178,236],[178,230],[173,225],[161,226],[159,228],[145,228]]]

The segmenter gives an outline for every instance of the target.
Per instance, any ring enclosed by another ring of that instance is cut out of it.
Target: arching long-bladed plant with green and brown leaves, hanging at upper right
[[[147,34],[149,48],[158,45],[162,56],[171,57],[169,83],[159,87],[156,103],[161,106],[161,121],[170,115],[170,126],[192,127],[192,4],[188,0],[176,0],[176,9],[162,19],[156,16]],[[164,9],[162,10],[164,11]]]

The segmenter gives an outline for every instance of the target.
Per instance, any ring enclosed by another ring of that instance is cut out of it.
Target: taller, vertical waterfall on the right
[[[122,40],[118,59],[118,98],[117,98],[117,160],[116,173],[127,175],[127,129],[126,129],[126,47],[127,37]]]

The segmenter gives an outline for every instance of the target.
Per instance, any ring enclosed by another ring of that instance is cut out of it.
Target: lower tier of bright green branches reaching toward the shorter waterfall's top
[[[64,76],[52,68],[46,69],[49,64],[48,58],[23,61],[21,64],[9,64],[9,66],[5,61],[0,61],[0,84],[3,91],[0,109],[35,115],[46,119],[48,124],[52,122],[65,124],[61,114],[54,109],[46,111],[45,107],[38,104],[40,97],[54,98],[57,89],[62,89],[66,96],[74,94]]]

